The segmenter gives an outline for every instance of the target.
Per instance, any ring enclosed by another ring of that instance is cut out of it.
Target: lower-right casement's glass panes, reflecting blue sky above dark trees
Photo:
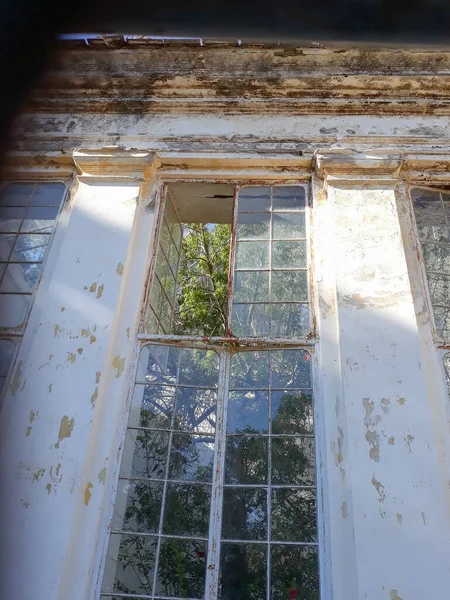
[[[227,406],[219,598],[319,598],[310,355],[239,352]]]

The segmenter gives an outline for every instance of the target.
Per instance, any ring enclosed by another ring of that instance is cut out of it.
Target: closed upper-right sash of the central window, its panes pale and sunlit
[[[306,336],[306,188],[244,187],[237,202],[233,333]]]

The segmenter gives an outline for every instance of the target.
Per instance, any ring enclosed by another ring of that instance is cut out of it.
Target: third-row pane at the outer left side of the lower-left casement
[[[128,429],[120,477],[164,479],[168,450],[168,433]]]

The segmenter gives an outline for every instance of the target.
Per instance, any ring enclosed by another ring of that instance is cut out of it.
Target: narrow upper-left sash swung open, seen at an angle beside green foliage
[[[146,331],[148,333],[169,334],[172,332],[182,238],[183,228],[178,220],[170,194],[167,192],[147,312]]]

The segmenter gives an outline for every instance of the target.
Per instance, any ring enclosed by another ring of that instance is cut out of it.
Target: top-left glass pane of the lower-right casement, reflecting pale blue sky
[[[239,388],[267,388],[268,386],[268,352],[238,352],[231,357],[231,390]]]

